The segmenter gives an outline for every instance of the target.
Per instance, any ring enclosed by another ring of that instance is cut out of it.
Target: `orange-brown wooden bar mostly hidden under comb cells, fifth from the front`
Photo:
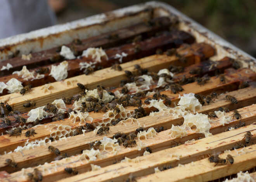
[[[240,76],[238,76],[240,75]],[[237,85],[239,85],[239,80],[237,77],[245,77],[247,76],[247,78],[250,77],[254,77],[256,74],[252,71],[249,71],[248,69],[243,69],[240,70],[239,72],[235,72],[235,74],[229,75],[228,78],[228,82],[224,83],[224,84],[219,84],[219,80],[216,79],[216,77],[211,77],[211,82],[207,83],[204,87],[198,87],[197,83],[190,83],[187,85],[184,85],[183,88],[185,89],[185,91],[181,92],[181,95],[183,93],[190,93],[193,92],[195,94],[201,94],[202,92],[206,93],[211,93],[213,90],[217,91],[217,90],[230,90],[234,87],[237,88]],[[217,85],[217,86],[216,86]],[[163,91],[161,92],[161,94],[166,94],[168,95],[172,100],[173,103],[178,103],[178,101],[180,100],[178,98],[178,94],[172,94],[171,91]],[[253,96],[254,97],[254,96]],[[237,98],[238,99],[238,98]],[[216,102],[216,100],[218,99],[214,99],[214,102]],[[211,103],[213,104],[213,103]],[[241,103],[240,103],[241,104]],[[251,103],[252,104],[252,103]],[[174,105],[174,104],[173,104]],[[215,104],[216,105],[216,104]],[[246,106],[246,105],[244,105]],[[233,109],[237,109],[237,105],[234,105],[235,108]],[[135,107],[129,107],[128,110],[133,110],[135,109]],[[214,108],[213,108],[214,109]],[[230,108],[231,109],[231,108]],[[93,118],[100,118],[103,117],[102,116],[103,113],[94,113],[94,112],[90,112],[90,116]],[[93,122],[97,122],[100,119],[95,119]],[[49,137],[50,136],[50,130],[49,128],[46,128],[46,126],[52,126],[52,124],[62,124],[62,125],[67,125],[67,126],[71,126],[71,129],[73,128],[77,128],[78,126],[80,126],[80,124],[77,122],[74,124],[73,121],[71,121],[70,119],[65,119],[65,121],[56,121],[56,122],[51,122],[42,126],[38,126],[36,128],[36,131],[38,131],[38,134],[35,135],[35,137],[31,138],[29,141],[35,141],[35,139],[43,139],[45,137]],[[17,148],[17,146],[23,146],[24,143],[26,142],[27,138],[22,135],[19,138],[16,137],[11,137],[9,138],[8,135],[5,136],[0,136],[0,141],[2,141],[2,145],[0,145],[0,154],[3,154],[3,152],[9,152],[9,151],[13,151],[15,148]]]

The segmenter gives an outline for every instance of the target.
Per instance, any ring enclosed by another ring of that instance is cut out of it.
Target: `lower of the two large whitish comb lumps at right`
[[[212,136],[209,133],[209,129],[211,128],[211,124],[209,122],[209,118],[206,114],[187,114],[184,117],[184,122],[182,126],[188,126],[190,129],[195,126],[195,133],[203,133],[205,137]]]

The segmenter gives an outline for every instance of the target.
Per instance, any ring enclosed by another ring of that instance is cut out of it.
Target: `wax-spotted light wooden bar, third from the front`
[[[243,121],[246,123],[246,125],[248,124],[252,124],[252,122],[254,121],[254,119],[256,119],[256,105],[251,105],[248,107],[244,107],[239,109],[238,111],[249,111],[248,114],[242,114],[243,117]],[[240,112],[242,113],[242,112]],[[244,116],[245,115],[245,116]],[[215,119],[216,120],[216,119]],[[221,126],[221,125],[216,125],[216,123],[212,123],[212,128],[210,129],[210,133],[214,134],[218,134],[221,132],[224,132],[227,127],[235,127],[236,124],[239,123],[239,120],[236,121],[232,121],[230,122],[227,126]],[[170,148],[171,145],[173,145],[173,141],[177,141],[177,142],[181,142],[184,143],[187,140],[191,140],[191,139],[196,139],[198,138],[198,136],[201,136],[202,134],[197,134],[191,131],[188,131],[188,136],[183,137],[183,138],[177,138],[177,139],[173,139],[168,137],[168,132],[170,131],[170,129],[166,130],[166,131],[162,131],[159,134],[157,134],[157,138],[149,138],[146,141],[144,140],[143,142],[147,144],[147,146],[150,146],[150,148],[152,149],[153,152],[156,151],[160,151],[160,150],[164,150],[166,148]],[[100,165],[101,167],[107,166],[107,165],[111,165],[112,161],[119,161],[121,158],[123,158],[123,156],[126,156],[128,158],[135,158],[136,156],[140,156],[141,153],[143,153],[145,150],[142,149],[141,151],[138,151],[137,148],[122,148],[121,151],[118,152],[117,155],[108,155],[107,158],[103,158],[100,160],[97,160],[95,162],[83,162],[81,163],[80,161],[78,162],[73,162],[71,164],[69,164],[69,167],[78,167],[82,168],[83,171],[86,170],[90,170],[90,164],[96,164],[96,165]],[[72,157],[71,157],[72,158]],[[69,162],[66,162],[66,164],[68,164]],[[60,170],[59,170],[60,168]],[[54,179],[57,179],[57,176],[61,178],[61,173],[65,173],[62,170],[62,166],[60,166],[59,168],[57,168],[57,170],[51,170],[51,173],[44,173],[45,178],[48,178],[52,175],[55,176]],[[81,170],[82,171],[82,170]],[[16,173],[12,173],[12,178],[16,178],[19,175],[21,175],[21,172],[16,172]],[[59,178],[59,179],[60,179]]]

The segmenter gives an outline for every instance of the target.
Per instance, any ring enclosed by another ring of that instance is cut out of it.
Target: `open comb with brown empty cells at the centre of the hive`
[[[95,122],[95,124],[99,126],[110,126],[111,121],[116,121],[117,119],[125,120],[132,116],[131,112],[133,111],[126,110],[123,105],[117,104],[117,107],[120,109],[119,113],[109,110],[103,115],[102,120]],[[133,122],[132,119],[131,122]]]

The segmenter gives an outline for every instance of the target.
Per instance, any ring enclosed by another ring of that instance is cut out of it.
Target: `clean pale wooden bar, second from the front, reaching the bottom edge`
[[[231,149],[232,146],[236,144],[236,142],[239,142],[244,137],[244,133],[246,131],[253,130],[253,129],[255,129],[255,126],[250,125],[240,129],[236,129],[234,131],[228,131],[221,134],[216,134],[208,138],[203,138],[203,139],[194,141],[192,142],[192,144],[189,144],[189,145],[180,145],[174,148],[158,151],[150,155],[140,156],[138,158],[132,159],[131,162],[117,163],[114,165],[101,168],[97,171],[81,173],[73,177],[62,179],[60,181],[68,182],[68,181],[82,180],[84,182],[87,182],[87,181],[88,182],[89,181],[105,182],[105,181],[111,180],[113,182],[117,182],[117,181],[126,180],[131,173],[137,177],[148,175],[150,173],[154,173],[154,168],[156,167],[162,167],[163,165],[176,166],[178,164],[190,163],[196,160],[200,160],[201,158],[208,157],[208,155],[210,155],[213,151],[218,152],[218,151]],[[254,141],[256,138],[256,130],[251,131],[251,133],[254,135],[253,136],[253,141]],[[222,140],[217,141],[219,139],[222,139]],[[217,141],[217,142],[211,143],[212,141]],[[256,146],[252,146],[252,148],[253,150],[255,150]],[[171,156],[172,154],[177,154],[182,156],[180,156],[180,160],[177,160],[176,157]],[[256,160],[256,152],[253,153],[253,156],[255,156],[255,158],[249,154],[246,156],[248,156],[246,157],[246,160],[251,158],[252,163],[255,166],[254,160]],[[135,161],[139,161],[139,162],[135,162]],[[211,166],[212,168],[214,164],[209,163],[209,166]],[[202,169],[203,166],[200,166],[200,167]],[[250,168],[252,167],[253,166],[250,166]]]

